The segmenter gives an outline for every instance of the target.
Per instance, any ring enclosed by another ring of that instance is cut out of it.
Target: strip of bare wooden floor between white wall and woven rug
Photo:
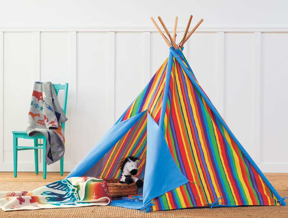
[[[55,182],[64,179],[69,172],[64,172],[63,176],[60,172],[47,172],[46,179],[43,179],[42,172],[18,172],[14,177],[13,172],[0,172],[0,182]],[[288,173],[264,173],[266,178],[271,182],[288,182]]]

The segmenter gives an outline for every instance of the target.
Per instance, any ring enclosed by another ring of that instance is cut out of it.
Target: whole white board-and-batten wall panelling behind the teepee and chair
[[[199,28],[184,48],[200,85],[264,172],[288,172],[287,41],[285,28]],[[0,171],[13,170],[11,131],[26,129],[33,81],[69,83],[64,170],[71,171],[168,52],[153,28],[0,29]],[[34,170],[33,155],[18,153],[19,171]]]

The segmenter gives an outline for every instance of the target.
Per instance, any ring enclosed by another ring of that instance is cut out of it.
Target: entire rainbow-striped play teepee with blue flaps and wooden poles
[[[159,211],[189,207],[285,205],[232,134],[196,80],[182,50],[158,17],[169,57],[119,120],[67,177],[120,178],[122,158],[141,158],[143,202],[111,205]],[[169,40],[168,40],[169,39]]]

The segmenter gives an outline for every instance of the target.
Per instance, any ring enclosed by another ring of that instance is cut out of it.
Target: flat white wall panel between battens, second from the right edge
[[[253,157],[254,33],[224,33],[224,118]]]

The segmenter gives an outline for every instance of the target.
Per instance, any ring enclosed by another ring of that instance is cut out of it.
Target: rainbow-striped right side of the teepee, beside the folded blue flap
[[[223,206],[278,204],[175,58],[163,129],[191,182],[154,198],[153,211],[207,206],[221,196]]]

